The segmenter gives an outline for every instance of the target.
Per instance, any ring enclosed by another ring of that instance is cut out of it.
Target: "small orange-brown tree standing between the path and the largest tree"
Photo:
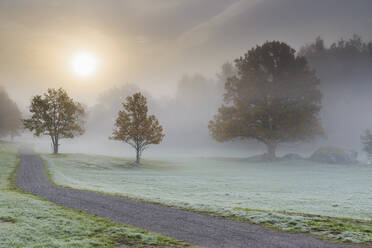
[[[140,164],[142,152],[163,140],[163,127],[154,115],[147,115],[147,101],[140,92],[128,96],[122,105],[110,139],[131,145],[136,150],[136,163]]]

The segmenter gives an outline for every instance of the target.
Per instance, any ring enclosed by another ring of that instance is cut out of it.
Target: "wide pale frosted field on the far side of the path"
[[[345,242],[372,241],[372,166],[238,158],[43,155],[56,184],[245,219]],[[319,216],[317,216],[319,215]],[[330,216],[330,217],[327,217]],[[355,221],[359,219],[359,221]]]

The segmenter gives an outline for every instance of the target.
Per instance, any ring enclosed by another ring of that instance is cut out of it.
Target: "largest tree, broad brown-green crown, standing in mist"
[[[225,83],[225,103],[209,123],[214,139],[258,140],[272,160],[280,143],[323,134],[319,80],[294,49],[266,42],[236,59],[235,67],[237,75]]]

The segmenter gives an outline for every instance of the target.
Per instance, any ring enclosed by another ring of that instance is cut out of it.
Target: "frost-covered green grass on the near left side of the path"
[[[15,145],[0,141],[0,247],[183,246],[16,190],[11,182],[16,152]]]

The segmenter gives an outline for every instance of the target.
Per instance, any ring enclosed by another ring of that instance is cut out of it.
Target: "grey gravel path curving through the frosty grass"
[[[17,185],[32,194],[89,214],[157,232],[205,247],[350,247],[311,236],[277,232],[258,225],[164,207],[124,197],[65,189],[48,181],[42,160],[31,150],[20,150]]]

